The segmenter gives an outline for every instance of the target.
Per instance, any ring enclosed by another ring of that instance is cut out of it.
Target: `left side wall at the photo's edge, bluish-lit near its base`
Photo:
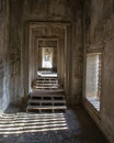
[[[0,113],[9,103],[9,4],[8,0],[0,0]]]

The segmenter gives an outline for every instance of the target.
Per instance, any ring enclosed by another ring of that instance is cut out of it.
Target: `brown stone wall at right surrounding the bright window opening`
[[[114,1],[88,0],[84,3],[83,14],[84,53],[87,51],[102,51],[102,95],[100,118],[91,116],[114,142]],[[86,55],[84,55],[86,56]],[[86,59],[86,57],[84,57]],[[91,109],[88,109],[89,111]],[[91,111],[90,111],[91,112]]]

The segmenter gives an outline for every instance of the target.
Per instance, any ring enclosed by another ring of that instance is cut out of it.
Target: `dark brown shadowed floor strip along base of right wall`
[[[82,107],[75,107],[73,112],[82,127],[82,136],[86,143],[110,143]]]

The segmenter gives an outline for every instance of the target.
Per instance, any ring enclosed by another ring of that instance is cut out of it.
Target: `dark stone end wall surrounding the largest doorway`
[[[69,22],[71,24],[71,29],[67,32],[70,33],[68,35],[68,40],[70,44],[68,44],[67,56],[62,58],[68,58],[68,67],[70,70],[66,74],[65,84],[73,85],[69,86],[68,95],[73,103],[76,101],[79,102],[79,97],[81,96],[81,79],[82,77],[78,77],[78,80],[73,78],[73,73],[79,73],[80,64],[82,66],[82,62],[77,58],[82,52],[79,40],[82,38],[81,34],[81,3],[80,0],[68,1],[68,0],[10,0],[10,75],[11,75],[11,88],[10,94],[12,95],[12,102],[16,102],[26,95],[26,89],[24,85],[27,84],[27,77],[25,76],[25,72],[27,72],[27,65],[25,62],[27,61],[27,35],[26,33],[26,23],[29,22]],[[77,24],[78,23],[78,24]],[[73,29],[77,31],[73,32]],[[80,30],[79,30],[80,29]],[[59,30],[44,29],[44,31],[37,31],[37,36],[44,35],[44,33],[48,33],[47,36],[52,35],[52,31],[55,31],[54,35],[59,35]],[[77,37],[76,37],[77,32]],[[44,35],[45,36],[45,35]],[[76,41],[76,42],[75,42]],[[61,41],[62,42],[62,41]],[[67,44],[67,42],[66,42]],[[77,46],[76,46],[77,44]],[[73,48],[76,48],[76,55],[73,55]],[[64,51],[62,51],[64,52]],[[73,56],[72,56],[73,55]],[[73,59],[72,59],[73,58]],[[81,56],[82,58],[82,56]],[[77,62],[73,62],[77,61]],[[67,59],[66,59],[67,62]],[[64,64],[64,61],[62,61]],[[78,66],[77,66],[78,64]],[[72,67],[75,67],[72,69]],[[64,69],[66,70],[66,69]],[[75,80],[75,81],[73,81]],[[77,87],[77,88],[76,88]],[[78,97],[78,98],[77,98]],[[69,101],[69,100],[68,100]]]

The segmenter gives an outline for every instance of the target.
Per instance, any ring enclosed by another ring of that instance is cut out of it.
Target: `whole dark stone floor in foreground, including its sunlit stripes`
[[[25,113],[9,109],[0,117],[0,143],[107,143],[82,108],[66,113]]]

